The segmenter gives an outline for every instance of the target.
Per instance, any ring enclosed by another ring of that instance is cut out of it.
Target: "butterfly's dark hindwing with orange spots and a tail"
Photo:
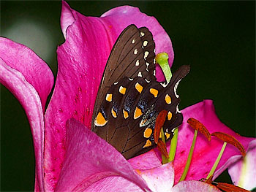
[[[132,158],[155,146],[155,121],[160,111],[167,110],[163,128],[165,138],[170,139],[173,128],[183,120],[176,88],[188,72],[189,66],[181,66],[167,85],[142,77],[121,78],[108,89],[94,119],[94,132],[125,158]]]

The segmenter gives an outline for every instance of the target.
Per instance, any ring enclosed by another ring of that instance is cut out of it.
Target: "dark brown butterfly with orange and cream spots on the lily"
[[[156,146],[154,126],[160,111],[167,111],[165,139],[173,137],[173,128],[183,120],[176,88],[189,66],[181,66],[169,83],[157,82],[154,49],[148,28],[125,28],[113,45],[94,104],[91,130],[127,159]]]

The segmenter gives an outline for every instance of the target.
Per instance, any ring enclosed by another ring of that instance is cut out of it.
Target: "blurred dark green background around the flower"
[[[255,137],[255,1],[68,1],[83,15],[100,16],[124,4],[154,15],[173,42],[181,82],[180,109],[213,99],[220,120]],[[1,36],[27,45],[56,76],[61,1],[1,1]],[[227,172],[218,180],[230,183]],[[34,190],[34,150],[23,108],[1,85],[1,191]]]

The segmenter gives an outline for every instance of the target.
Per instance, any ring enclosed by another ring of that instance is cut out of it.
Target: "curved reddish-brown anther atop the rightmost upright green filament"
[[[246,152],[244,150],[243,145],[241,145],[241,143],[238,142],[238,140],[235,137],[233,137],[229,134],[222,133],[222,132],[214,132],[211,135],[215,136],[215,137],[218,137],[219,139],[221,139],[224,142],[227,142],[227,143],[230,143],[231,145],[234,145],[235,147],[238,148],[238,150],[240,150],[240,152],[243,156],[246,155]]]

